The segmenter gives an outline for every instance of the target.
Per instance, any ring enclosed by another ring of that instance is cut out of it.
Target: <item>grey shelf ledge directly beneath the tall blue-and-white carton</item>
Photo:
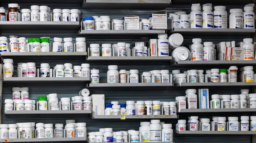
[[[179,113],[208,113],[208,112],[256,112],[255,108],[239,109],[180,109]]]

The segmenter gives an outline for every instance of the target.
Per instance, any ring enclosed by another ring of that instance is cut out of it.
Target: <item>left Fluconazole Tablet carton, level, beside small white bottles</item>
[[[124,30],[140,30],[140,17],[136,15],[127,15],[122,18],[124,20]]]

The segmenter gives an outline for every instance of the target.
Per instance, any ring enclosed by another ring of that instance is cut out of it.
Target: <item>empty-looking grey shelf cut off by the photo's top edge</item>
[[[82,8],[86,9],[165,9],[171,0],[84,0]]]

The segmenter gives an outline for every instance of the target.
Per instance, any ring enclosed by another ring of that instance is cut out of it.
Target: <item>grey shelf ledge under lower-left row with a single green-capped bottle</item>
[[[8,114],[91,114],[92,110],[23,110],[23,111],[6,111]]]

